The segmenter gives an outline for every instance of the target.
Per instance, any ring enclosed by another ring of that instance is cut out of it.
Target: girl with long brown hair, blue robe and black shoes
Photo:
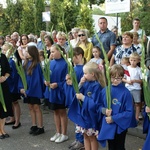
[[[43,116],[40,109],[40,98],[43,98],[44,83],[43,75],[40,66],[38,49],[34,45],[28,45],[26,49],[26,59],[23,64],[26,80],[27,90],[23,88],[20,82],[19,89],[25,97],[25,103],[28,103],[32,127],[30,134],[39,135],[44,133]]]

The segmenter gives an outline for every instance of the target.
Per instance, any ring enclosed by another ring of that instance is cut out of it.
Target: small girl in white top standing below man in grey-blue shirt
[[[97,64],[102,64],[103,63],[103,59],[100,58],[101,55],[101,50],[98,46],[94,46],[92,49],[92,53],[94,58],[92,58],[90,61],[91,62],[96,62]]]

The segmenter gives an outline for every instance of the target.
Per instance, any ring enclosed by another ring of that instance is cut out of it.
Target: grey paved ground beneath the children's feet
[[[38,136],[29,134],[31,127],[31,118],[26,104],[20,101],[22,115],[22,126],[16,130],[11,128],[11,125],[6,126],[6,131],[10,138],[0,140],[0,150],[68,150],[68,145],[74,140],[74,124],[69,121],[68,136],[69,140],[56,144],[50,142],[49,138],[55,133],[55,125],[53,121],[53,112],[50,110],[43,110],[45,133]],[[140,150],[144,143],[144,139],[136,136],[127,135],[126,150]],[[100,150],[107,150],[99,147]]]

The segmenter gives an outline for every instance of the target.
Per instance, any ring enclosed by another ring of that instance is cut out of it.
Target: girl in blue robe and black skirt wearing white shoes
[[[56,134],[50,138],[50,141],[61,143],[68,140],[67,134],[67,114],[65,107],[65,95],[63,92],[63,84],[67,75],[67,63],[62,58],[60,53],[65,54],[65,50],[58,44],[51,47],[51,57],[53,60],[50,63],[50,109],[54,110],[54,121],[56,125]]]

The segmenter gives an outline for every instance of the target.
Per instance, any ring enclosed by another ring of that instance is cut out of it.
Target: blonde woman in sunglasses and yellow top
[[[84,57],[86,58],[86,61],[88,62],[92,57],[93,44],[92,42],[88,41],[87,30],[85,29],[79,30],[78,37],[79,37],[79,42],[77,46],[81,47],[84,50]]]

